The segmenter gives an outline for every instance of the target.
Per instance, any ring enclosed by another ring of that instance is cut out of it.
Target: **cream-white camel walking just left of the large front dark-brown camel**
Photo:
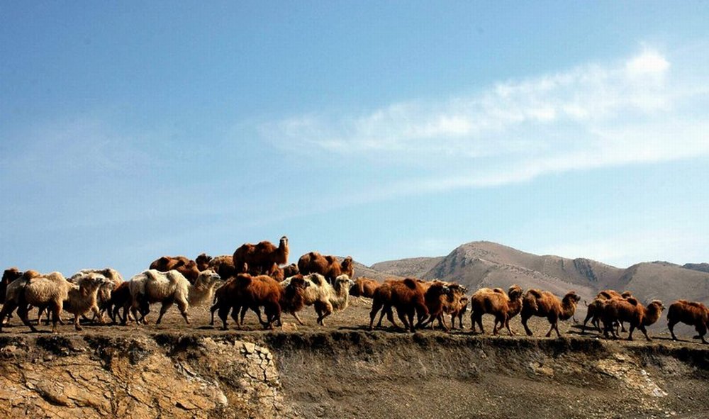
[[[140,323],[150,313],[151,303],[162,303],[160,315],[155,323],[160,324],[162,316],[173,303],[177,303],[184,321],[189,324],[187,309],[190,305],[198,306],[204,301],[211,301],[214,286],[220,280],[219,275],[211,269],[200,272],[194,284],[176,270],[160,272],[148,269],[130,279],[131,311],[136,321]],[[138,310],[141,316],[138,318]],[[123,315],[123,323],[126,317]]]

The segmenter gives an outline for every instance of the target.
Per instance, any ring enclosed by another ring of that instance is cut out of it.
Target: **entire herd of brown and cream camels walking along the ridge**
[[[547,318],[549,331],[559,333],[559,320],[574,318],[576,306],[581,298],[569,291],[559,298],[549,291],[528,289],[513,285],[507,291],[500,288],[482,288],[468,295],[468,290],[454,282],[424,281],[415,278],[374,279],[354,278],[352,257],[341,262],[337,257],[308,252],[297,264],[288,264],[289,245],[285,236],[275,246],[262,241],[256,245],[245,243],[233,255],[210,257],[201,254],[196,259],[184,256],[163,256],[150,264],[149,269],[123,281],[114,269],[84,269],[65,278],[59,272],[40,274],[16,268],[6,269],[0,281],[0,331],[16,311],[18,318],[35,332],[37,329],[28,318],[30,308],[38,308],[37,323],[47,312],[47,321],[52,321],[52,332],[57,323],[62,322],[62,313],[74,315],[74,327],[81,330],[79,318],[94,314],[94,321],[104,323],[106,315],[111,323],[128,320],[147,323],[150,305],[161,303],[160,323],[163,315],[172,305],[177,305],[186,323],[189,324],[189,306],[211,303],[211,325],[214,314],[222,321],[222,328],[228,328],[229,315],[240,326],[247,311],[254,311],[264,328],[282,325],[281,315],[291,314],[303,324],[298,313],[313,306],[318,315],[317,322],[325,326],[325,318],[347,308],[350,296],[371,298],[369,329],[374,328],[374,320],[379,314],[376,327],[386,315],[396,328],[415,331],[420,328],[442,330],[463,328],[464,313],[470,310],[473,333],[485,333],[482,317],[492,315],[492,333],[497,335],[506,328],[510,335],[510,319],[520,315],[527,335],[532,330],[527,321],[533,316]],[[656,323],[665,307],[661,301],[651,301],[644,306],[628,291],[623,294],[614,290],[598,293],[587,304],[588,313],[581,326],[586,333],[587,324],[603,333],[607,338],[618,338],[628,325],[627,339],[632,340],[635,329],[640,330],[647,340],[647,327]],[[123,313],[121,313],[121,309]],[[265,315],[265,319],[262,317]],[[450,325],[447,323],[450,318]],[[574,318],[574,321],[576,319]],[[705,334],[709,327],[709,309],[702,303],[679,300],[669,306],[667,321],[671,336],[676,340],[674,326],[677,323],[693,325],[696,338],[706,343]]]

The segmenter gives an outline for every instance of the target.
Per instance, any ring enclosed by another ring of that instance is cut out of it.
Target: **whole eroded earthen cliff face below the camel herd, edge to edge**
[[[709,348],[360,330],[9,336],[0,416],[705,418]]]

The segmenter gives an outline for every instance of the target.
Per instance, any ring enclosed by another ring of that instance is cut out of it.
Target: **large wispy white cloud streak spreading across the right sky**
[[[427,167],[405,182],[411,193],[677,160],[709,155],[709,122],[684,112],[706,101],[707,84],[674,77],[677,67],[691,65],[645,47],[624,60],[499,82],[467,97],[406,101],[359,116],[294,116],[258,130],[306,155]]]

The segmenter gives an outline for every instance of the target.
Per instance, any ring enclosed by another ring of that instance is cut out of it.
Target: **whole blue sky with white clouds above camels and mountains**
[[[709,262],[706,2],[0,3],[0,264]]]

